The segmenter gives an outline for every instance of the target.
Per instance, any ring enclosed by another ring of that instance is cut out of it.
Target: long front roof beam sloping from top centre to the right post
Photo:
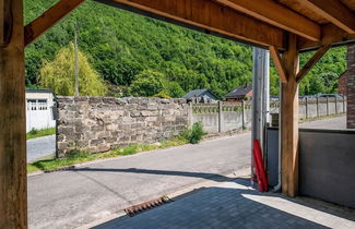
[[[257,46],[284,50],[284,31],[211,0],[96,0],[132,8]]]

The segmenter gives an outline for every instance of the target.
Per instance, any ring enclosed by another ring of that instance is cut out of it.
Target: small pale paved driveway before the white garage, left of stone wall
[[[27,140],[27,162],[51,156],[56,152],[56,135]]]

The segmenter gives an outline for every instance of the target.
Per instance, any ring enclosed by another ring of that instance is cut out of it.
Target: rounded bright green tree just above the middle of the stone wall
[[[164,89],[164,75],[152,70],[144,70],[135,75],[130,86],[132,96],[154,96]]]

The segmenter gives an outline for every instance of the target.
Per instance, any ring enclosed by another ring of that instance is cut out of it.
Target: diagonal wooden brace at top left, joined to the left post
[[[84,1],[85,0],[60,0],[44,14],[27,24],[25,26],[25,46],[34,41]]]

